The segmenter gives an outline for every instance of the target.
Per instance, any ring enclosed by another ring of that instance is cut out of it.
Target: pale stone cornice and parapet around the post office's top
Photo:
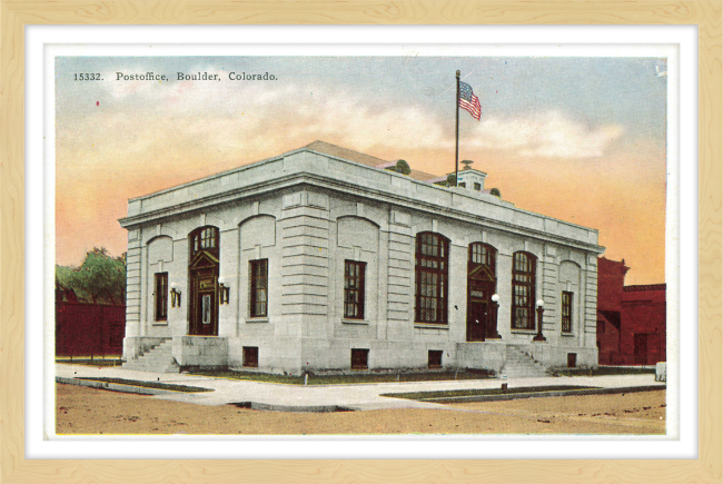
[[[329,161],[340,165],[331,167]],[[129,200],[129,216],[119,221],[122,227],[130,229],[296,186],[355,195],[403,210],[414,209],[454,220],[482,224],[491,229],[597,254],[604,250],[597,245],[595,229],[523,210],[494,196],[466,194],[465,190],[430,185],[308,148],[133,198]]]

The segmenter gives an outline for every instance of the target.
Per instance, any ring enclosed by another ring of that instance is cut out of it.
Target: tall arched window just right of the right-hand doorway
[[[515,253],[512,264],[512,328],[535,329],[537,258],[532,254]]]

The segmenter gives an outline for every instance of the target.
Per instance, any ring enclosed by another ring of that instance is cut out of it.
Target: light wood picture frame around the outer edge
[[[0,483],[721,483],[721,1],[0,0]],[[699,458],[674,461],[30,461],[24,458],[24,26],[696,24]]]

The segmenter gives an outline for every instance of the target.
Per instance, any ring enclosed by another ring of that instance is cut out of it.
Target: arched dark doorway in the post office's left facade
[[[188,236],[188,334],[218,335],[218,228],[200,227]]]

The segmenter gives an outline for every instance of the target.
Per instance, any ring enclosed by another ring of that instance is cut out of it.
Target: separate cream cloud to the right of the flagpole
[[[484,119],[474,129],[472,142],[525,157],[600,158],[622,135],[618,125],[591,127],[554,110],[514,119]]]

